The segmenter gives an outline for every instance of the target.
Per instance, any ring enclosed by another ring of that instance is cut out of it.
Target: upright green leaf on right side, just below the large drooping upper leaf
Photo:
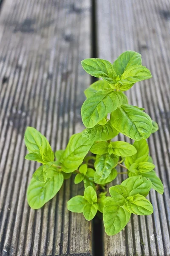
[[[128,169],[133,163],[147,162],[149,159],[149,147],[146,140],[135,141],[133,146],[136,148],[137,153],[125,158],[125,166]]]

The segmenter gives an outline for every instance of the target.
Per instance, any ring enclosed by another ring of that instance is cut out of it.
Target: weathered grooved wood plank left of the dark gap
[[[66,209],[82,193],[67,180],[40,210],[26,201],[37,164],[24,160],[26,126],[54,150],[82,131],[80,106],[90,78],[90,0],[6,0],[0,15],[0,255],[91,256],[91,223]]]

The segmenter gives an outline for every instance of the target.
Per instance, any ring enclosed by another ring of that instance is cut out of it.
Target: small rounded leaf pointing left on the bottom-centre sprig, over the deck
[[[87,204],[87,201],[84,197],[82,195],[77,195],[67,202],[67,209],[71,212],[81,213],[83,212],[85,204]]]

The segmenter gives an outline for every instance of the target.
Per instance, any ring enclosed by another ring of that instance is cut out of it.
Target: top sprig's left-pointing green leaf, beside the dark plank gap
[[[83,69],[91,76],[102,78],[109,84],[115,83],[117,77],[116,72],[109,61],[99,58],[88,58],[81,61],[81,64]]]

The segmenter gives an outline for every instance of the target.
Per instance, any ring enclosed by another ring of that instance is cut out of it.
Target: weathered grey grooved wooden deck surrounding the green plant
[[[170,0],[1,0],[0,8],[0,256],[170,256]],[[38,165],[24,160],[23,136],[34,126],[54,150],[65,148],[83,130],[91,77],[80,61],[113,62],[127,49],[153,75],[127,96],[159,123],[148,143],[164,195],[150,192],[153,215],[133,215],[115,236],[99,233],[97,255],[96,225],[66,208],[81,184],[67,180],[42,209],[28,207]]]

